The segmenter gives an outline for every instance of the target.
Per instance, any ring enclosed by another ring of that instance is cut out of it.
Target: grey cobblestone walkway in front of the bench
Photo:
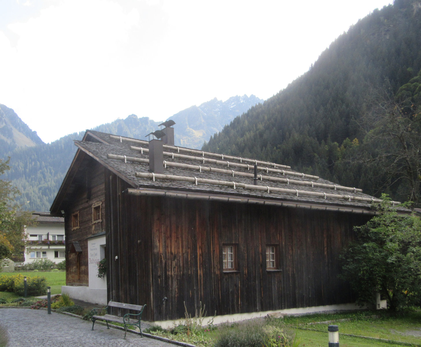
[[[0,324],[8,330],[8,346],[28,347],[175,347],[176,345],[46,310],[1,308]]]

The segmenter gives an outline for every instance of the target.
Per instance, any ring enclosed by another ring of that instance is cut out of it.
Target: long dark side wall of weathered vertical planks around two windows
[[[338,254],[361,215],[202,200],[135,197],[110,175],[109,299],[147,304],[146,320],[352,302],[338,280]],[[115,199],[112,199],[112,198]],[[110,200],[110,201],[111,201]],[[222,245],[237,247],[238,271],[222,271]],[[277,245],[280,271],[266,270]],[[167,299],[165,299],[167,298]]]

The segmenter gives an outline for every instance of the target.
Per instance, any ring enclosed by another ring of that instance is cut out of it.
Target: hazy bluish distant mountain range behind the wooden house
[[[199,107],[192,106],[177,113],[174,117],[170,117],[176,122],[176,144],[197,143],[197,147],[193,148],[200,148],[211,133],[222,130],[226,123],[247,111],[257,102],[262,102],[262,100],[255,96],[250,96],[250,98],[235,96],[225,102],[213,99]],[[75,155],[76,147],[73,140],[82,139],[85,132],[73,133],[53,141],[51,144],[45,144],[12,109],[4,105],[0,106],[0,122],[3,121],[5,124],[3,132],[8,139],[5,146],[1,146],[3,142],[0,143],[0,158],[11,157],[9,163],[11,170],[7,171],[2,179],[11,180],[13,185],[21,191],[19,203],[24,206],[24,209],[49,211]],[[195,111],[191,112],[192,109]],[[200,115],[197,112],[200,112]],[[191,117],[192,114],[195,116]],[[1,117],[2,115],[5,116]],[[224,117],[226,117],[225,121]],[[145,135],[157,130],[160,123],[162,122],[155,122],[148,117],[138,118],[136,115],[129,115],[125,119],[117,119],[112,123],[99,125],[93,130],[144,139]],[[3,134],[1,124],[0,133]],[[196,133],[194,137],[191,136],[192,131]],[[21,134],[26,137],[24,138]],[[0,135],[0,141],[1,139]],[[25,141],[19,142],[18,139]]]

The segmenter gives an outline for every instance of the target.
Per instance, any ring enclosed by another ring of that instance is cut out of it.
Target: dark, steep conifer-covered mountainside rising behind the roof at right
[[[236,117],[202,149],[260,157],[362,188],[368,194],[378,196],[385,191],[394,200],[416,200],[419,165],[408,168],[405,158],[393,163],[392,153],[388,162],[381,163],[381,147],[392,151],[389,147],[396,139],[385,143],[381,139],[387,136],[380,136],[376,145],[367,136],[373,136],[370,131],[379,126],[381,112],[393,113],[392,104],[404,101],[395,95],[399,91],[402,96],[401,86],[421,69],[420,32],[419,0],[395,0],[374,10],[338,37],[308,72]],[[410,97],[416,93],[415,84]],[[394,107],[399,109],[399,104]],[[378,117],[374,117],[376,112]],[[406,118],[412,130],[419,127],[419,118],[418,123],[416,118]],[[415,156],[416,150],[412,151]],[[393,165],[393,170],[400,165],[408,171],[403,176],[412,177],[403,177],[402,171],[388,176],[387,169],[392,172]]]

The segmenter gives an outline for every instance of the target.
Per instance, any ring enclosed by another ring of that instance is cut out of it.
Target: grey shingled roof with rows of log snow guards
[[[233,157],[171,145],[163,145],[163,173],[149,172],[149,142],[87,131],[64,179],[51,211],[59,210],[80,152],[92,157],[133,187],[129,194],[167,195],[179,198],[225,200],[247,203],[323,208],[373,213],[379,199],[354,187],[343,187],[317,176],[294,171],[290,166]],[[257,164],[257,185],[254,165]],[[60,198],[61,197],[61,198]],[[397,205],[398,202],[392,202]],[[406,208],[398,208],[408,211]]]

